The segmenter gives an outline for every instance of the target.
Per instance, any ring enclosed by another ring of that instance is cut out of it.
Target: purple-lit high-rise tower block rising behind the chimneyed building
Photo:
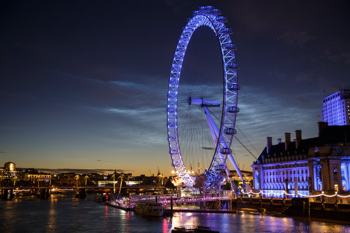
[[[350,90],[339,90],[323,98],[322,121],[328,125],[350,125]]]

